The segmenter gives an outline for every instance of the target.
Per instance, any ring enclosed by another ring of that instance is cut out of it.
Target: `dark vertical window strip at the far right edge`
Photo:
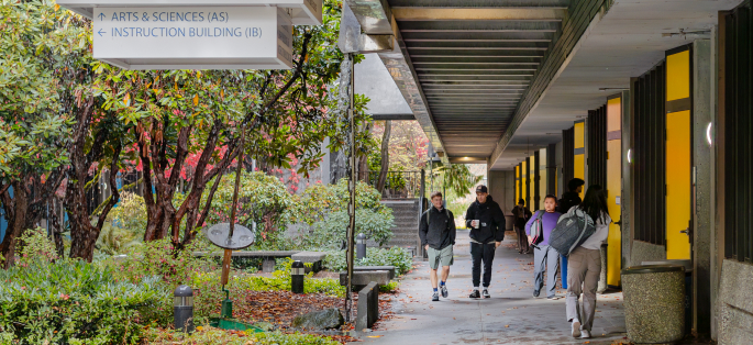
[[[753,258],[753,77],[751,3],[724,15],[724,247],[740,261]]]

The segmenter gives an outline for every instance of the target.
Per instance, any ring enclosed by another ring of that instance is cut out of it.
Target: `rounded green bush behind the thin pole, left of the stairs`
[[[346,237],[348,201],[345,179],[336,185],[314,185],[306,190],[300,198],[297,220],[312,225],[304,241],[309,248],[340,247]],[[367,238],[384,245],[392,237],[390,229],[395,218],[392,210],[380,201],[381,196],[372,186],[356,183],[356,233],[364,233]]]

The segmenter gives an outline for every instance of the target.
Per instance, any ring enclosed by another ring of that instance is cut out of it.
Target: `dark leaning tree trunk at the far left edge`
[[[15,245],[16,240],[26,225],[26,211],[29,210],[29,196],[24,186],[18,181],[12,182],[13,198],[11,200],[8,191],[3,193],[3,208],[5,208],[5,218],[8,220],[8,229],[5,230],[5,238],[0,244],[0,253],[4,257],[3,268],[8,269],[15,263]]]

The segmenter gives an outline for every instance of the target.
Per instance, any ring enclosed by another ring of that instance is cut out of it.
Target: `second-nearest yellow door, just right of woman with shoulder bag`
[[[622,230],[613,222],[622,218],[622,104],[620,98],[607,101],[607,207],[612,224],[607,238],[607,283],[620,286]]]

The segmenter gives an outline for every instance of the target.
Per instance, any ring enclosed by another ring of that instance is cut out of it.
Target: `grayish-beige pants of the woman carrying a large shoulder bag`
[[[601,272],[601,253],[599,251],[577,247],[567,257],[567,321],[577,319],[580,322],[580,327],[588,332],[594,326],[599,272]],[[583,313],[580,313],[578,305],[578,298],[582,292]]]

